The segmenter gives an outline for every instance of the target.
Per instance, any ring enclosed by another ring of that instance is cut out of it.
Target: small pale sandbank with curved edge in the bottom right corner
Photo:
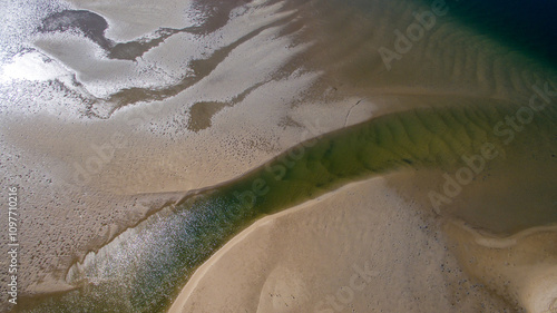
[[[460,222],[444,228],[468,273],[515,299],[527,312],[557,312],[557,225],[509,237],[490,236]]]

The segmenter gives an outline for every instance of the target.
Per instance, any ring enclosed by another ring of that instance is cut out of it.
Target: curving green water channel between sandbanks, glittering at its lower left
[[[133,236],[105,246],[101,251],[106,253],[96,256],[85,270],[74,272],[72,282],[85,284],[81,288],[28,299],[18,311],[163,312],[196,267],[257,218],[349,182],[394,169],[452,173],[466,165],[463,155],[478,154],[486,143],[500,151],[502,163],[514,159],[514,155],[526,155],[531,164],[541,162],[549,177],[557,177],[555,106],[532,111],[529,123],[508,143],[508,131],[498,136],[494,127],[516,116],[520,106],[463,99],[438,107],[436,98],[430,100],[436,108],[391,114],[313,138],[227,185],[154,214],[134,229]],[[546,216],[536,221],[557,222],[551,203],[549,209],[540,212]],[[479,222],[468,221],[472,224],[510,223],[508,216],[481,217],[481,212],[460,215],[465,219],[467,216],[480,216]],[[85,283],[87,280],[95,284]]]

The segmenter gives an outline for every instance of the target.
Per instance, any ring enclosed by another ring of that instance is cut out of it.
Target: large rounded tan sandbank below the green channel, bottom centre
[[[519,312],[462,272],[441,225],[382,177],[350,184],[250,226],[169,312]]]

